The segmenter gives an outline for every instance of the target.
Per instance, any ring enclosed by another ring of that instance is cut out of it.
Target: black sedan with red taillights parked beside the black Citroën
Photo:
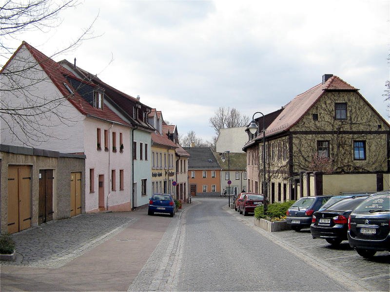
[[[343,240],[348,240],[348,217],[353,209],[362,201],[366,200],[366,198],[367,196],[344,198],[341,201],[331,204],[325,210],[314,212],[312,215],[312,225],[310,225],[312,237],[324,238],[334,246],[339,245]]]

